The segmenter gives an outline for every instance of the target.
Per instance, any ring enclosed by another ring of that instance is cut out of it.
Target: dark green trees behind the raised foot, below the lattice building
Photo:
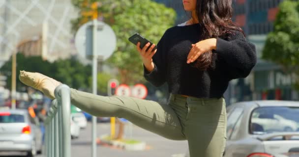
[[[1,68],[0,73],[7,76],[7,88],[11,88],[11,64],[8,60]],[[54,63],[43,61],[40,56],[26,57],[22,53],[17,53],[17,90],[23,89],[25,85],[19,81],[20,70],[37,72],[55,78],[72,88],[90,87],[88,78],[91,75],[91,67],[82,65],[75,58],[57,60]]]

